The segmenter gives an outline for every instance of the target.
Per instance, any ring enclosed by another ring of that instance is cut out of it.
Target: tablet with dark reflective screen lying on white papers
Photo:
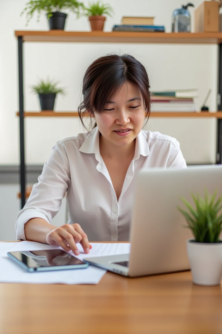
[[[7,255],[28,272],[83,269],[89,266],[61,249],[8,252]]]

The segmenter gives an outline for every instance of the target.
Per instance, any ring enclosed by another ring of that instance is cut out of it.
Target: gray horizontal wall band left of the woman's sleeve
[[[34,184],[42,173],[43,165],[26,166],[26,183]],[[20,184],[20,167],[18,165],[0,165],[0,184]]]

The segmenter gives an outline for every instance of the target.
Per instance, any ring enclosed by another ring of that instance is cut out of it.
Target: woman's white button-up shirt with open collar
[[[89,241],[128,241],[136,172],[142,167],[186,168],[175,138],[142,130],[117,201],[100,155],[99,135],[96,127],[90,133],[56,143],[38,183],[17,215],[18,239],[25,240],[24,224],[29,219],[39,217],[50,223],[66,194],[69,223],[79,223]]]

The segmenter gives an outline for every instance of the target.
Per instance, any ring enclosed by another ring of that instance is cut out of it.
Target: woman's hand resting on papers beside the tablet
[[[50,230],[46,236],[49,245],[61,246],[66,252],[73,251],[79,255],[77,243],[80,242],[84,252],[89,253],[92,245],[89,244],[86,233],[79,224],[65,224]]]

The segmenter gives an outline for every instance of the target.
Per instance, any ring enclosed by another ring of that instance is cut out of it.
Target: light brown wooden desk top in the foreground
[[[30,274],[32,275],[32,274]],[[1,334],[221,334],[221,286],[190,272],[98,285],[0,284]]]

